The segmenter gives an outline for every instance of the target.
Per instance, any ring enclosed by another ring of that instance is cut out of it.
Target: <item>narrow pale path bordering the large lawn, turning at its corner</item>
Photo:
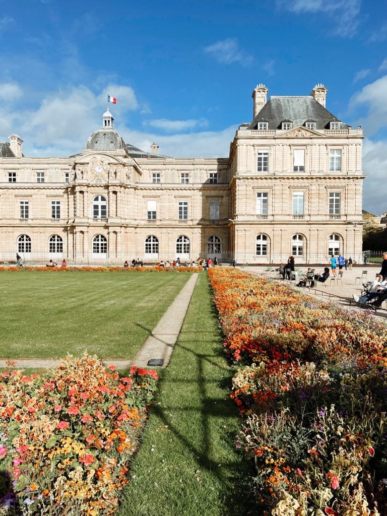
[[[106,367],[114,365],[117,369],[127,369],[132,367],[132,365],[150,367],[148,366],[149,360],[161,359],[164,361],[162,367],[166,367],[171,358],[173,347],[178,340],[198,277],[198,273],[192,274],[166,313],[159,320],[156,328],[139,350],[134,360],[103,360],[102,363]],[[7,367],[7,361],[8,360],[0,360],[0,367]],[[28,367],[49,369],[59,363],[60,360],[54,359],[18,359],[17,364],[12,367],[17,369]]]

